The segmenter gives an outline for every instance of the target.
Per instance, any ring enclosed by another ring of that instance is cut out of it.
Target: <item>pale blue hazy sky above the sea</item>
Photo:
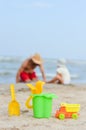
[[[86,0],[0,0],[0,56],[86,60]]]

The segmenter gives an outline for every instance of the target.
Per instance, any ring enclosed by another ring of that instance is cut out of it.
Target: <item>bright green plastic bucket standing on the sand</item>
[[[52,99],[55,94],[33,94],[33,115],[35,118],[49,118],[52,112]]]

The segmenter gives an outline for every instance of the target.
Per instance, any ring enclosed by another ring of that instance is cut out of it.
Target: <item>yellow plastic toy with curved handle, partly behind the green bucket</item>
[[[32,84],[27,84],[27,86],[30,88],[32,94],[40,94],[43,91],[44,84],[45,83],[42,81],[37,81],[35,86],[33,86]],[[32,105],[30,105],[31,100],[32,100],[32,96],[29,96],[25,103],[27,108],[33,107]]]

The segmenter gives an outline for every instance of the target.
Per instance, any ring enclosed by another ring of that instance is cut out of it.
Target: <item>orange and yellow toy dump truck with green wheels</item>
[[[67,104],[62,103],[60,109],[56,111],[55,117],[61,120],[65,118],[77,119],[80,110],[80,104]]]

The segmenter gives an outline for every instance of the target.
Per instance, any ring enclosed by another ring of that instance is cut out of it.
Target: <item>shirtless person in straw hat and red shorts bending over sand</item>
[[[34,54],[29,59],[26,59],[19,68],[16,75],[16,82],[30,82],[38,80],[36,72],[34,71],[36,67],[40,68],[43,80],[46,81],[42,58],[39,54]]]

